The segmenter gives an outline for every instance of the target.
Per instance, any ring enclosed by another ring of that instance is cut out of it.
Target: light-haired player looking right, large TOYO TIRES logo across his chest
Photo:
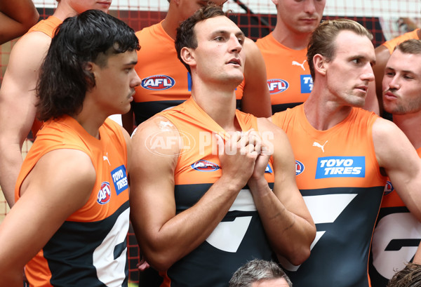
[[[384,175],[421,219],[417,152],[395,124],[361,109],[374,80],[372,37],[352,20],[322,22],[308,48],[312,93],[303,105],[272,116],[293,147],[297,185],[317,228],[306,262],[281,260],[294,287],[370,286],[368,255]]]

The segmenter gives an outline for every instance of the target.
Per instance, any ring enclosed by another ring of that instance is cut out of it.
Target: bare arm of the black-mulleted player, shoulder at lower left
[[[95,169],[83,152],[58,149],[42,156],[0,225],[1,287],[22,286],[25,264],[86,203],[94,183]]]

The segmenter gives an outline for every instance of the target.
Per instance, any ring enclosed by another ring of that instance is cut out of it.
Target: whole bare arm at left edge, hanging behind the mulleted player
[[[41,32],[22,37],[13,47],[0,88],[0,186],[11,207],[22,166],[22,144],[35,119],[39,67],[50,42]]]

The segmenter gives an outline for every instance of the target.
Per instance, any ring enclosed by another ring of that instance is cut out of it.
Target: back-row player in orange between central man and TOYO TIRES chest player
[[[266,62],[267,86],[274,114],[302,104],[312,91],[307,44],[321,21],[326,0],[272,2],[277,11],[275,29],[258,39],[256,44]]]

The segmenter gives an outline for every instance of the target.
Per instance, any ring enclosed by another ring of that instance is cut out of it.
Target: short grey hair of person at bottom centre
[[[275,262],[255,259],[234,272],[229,280],[229,287],[250,287],[255,282],[280,278],[285,279],[289,287],[293,287],[286,273]]]

